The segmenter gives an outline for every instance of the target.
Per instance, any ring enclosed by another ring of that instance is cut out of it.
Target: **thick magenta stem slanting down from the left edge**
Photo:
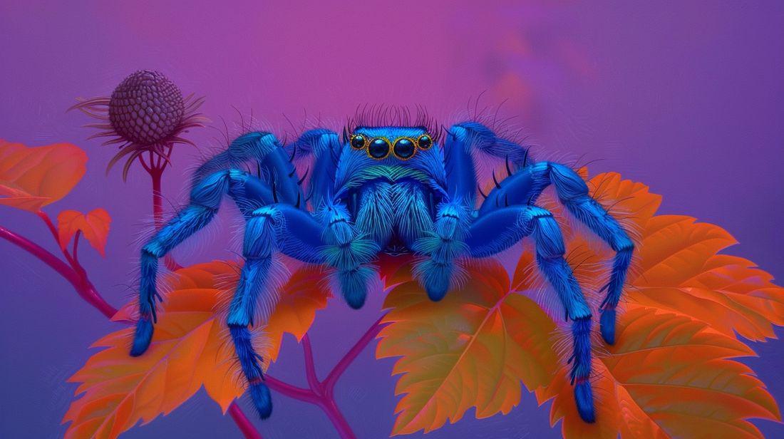
[[[0,227],[0,238],[5,238],[6,241],[19,246],[21,249],[27,250],[31,255],[41,259],[43,263],[52,267],[57,273],[60,274],[66,281],[71,282],[76,292],[87,303],[93,305],[96,310],[99,310],[106,317],[111,318],[117,313],[110,304],[103,300],[103,297],[98,294],[95,286],[86,277],[80,276],[72,267],[68,267],[62,260],[54,256],[52,253],[43,249],[40,245],[35,244],[33,241],[23,238],[18,234],[13,233],[5,227]]]

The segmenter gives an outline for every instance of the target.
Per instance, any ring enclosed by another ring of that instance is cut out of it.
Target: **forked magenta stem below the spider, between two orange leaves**
[[[338,364],[335,368],[332,369],[332,372],[329,372],[327,378],[322,382],[318,380],[316,376],[316,369],[314,366],[313,361],[313,350],[310,346],[310,337],[307,336],[307,333],[302,338],[302,346],[303,351],[305,354],[305,374],[307,376],[307,384],[310,389],[303,389],[302,387],[292,386],[289,383],[284,383],[279,381],[278,379],[274,379],[273,377],[267,375],[267,385],[270,386],[270,389],[277,391],[280,394],[284,394],[287,397],[292,397],[299,401],[308,402],[313,405],[318,405],[327,415],[330,421],[332,421],[332,425],[335,426],[335,429],[340,434],[340,437],[343,439],[356,439],[357,435],[354,434],[354,431],[351,430],[351,426],[348,424],[345,417],[343,417],[343,413],[340,412],[340,409],[335,403],[335,384],[337,380],[343,375],[343,372],[346,371],[348,366],[354,361],[358,355],[361,353],[362,350],[365,349],[365,346],[376,338],[379,335],[381,329],[386,326],[382,325],[381,320],[383,316],[379,317],[368,331],[365,332],[365,335],[362,336],[354,346],[347,352],[343,358],[338,361]]]

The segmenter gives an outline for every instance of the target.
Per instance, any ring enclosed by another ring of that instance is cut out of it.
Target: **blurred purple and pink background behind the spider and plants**
[[[784,279],[784,2],[0,2],[0,138],[27,146],[71,142],[89,153],[87,173],[45,208],[102,207],[113,222],[107,258],[80,259],[115,307],[129,300],[138,241],[150,233],[151,183],[135,166],[128,183],[104,176],[114,148],[85,141],[94,130],[75,96],[108,96],[126,75],[154,69],[223,131],[252,114],[292,132],[307,114],[338,128],[360,103],[421,104],[442,123],[497,107],[540,145],[539,158],[575,159],[592,174],[621,172],[663,194],[660,213],[695,216],[729,230],[728,253]],[[235,111],[234,107],[237,108]],[[231,131],[231,128],[230,128]],[[218,146],[215,129],[187,137]],[[177,147],[165,172],[169,203],[185,198],[198,154]],[[230,209],[224,209],[230,210]],[[181,263],[234,257],[232,215],[177,252]],[[4,227],[56,251],[44,224],[0,206]],[[140,238],[140,236],[142,238]],[[118,328],[37,259],[0,241],[0,437],[60,437],[75,385],[65,383]],[[382,297],[350,311],[335,301],[312,333],[321,378],[378,315]],[[779,336],[784,331],[777,331]],[[746,363],[784,401],[784,343],[753,346]],[[394,422],[394,360],[367,349],[341,379],[338,404],[358,437],[385,437]],[[306,386],[301,347],[286,336],[270,373]],[[274,416],[254,421],[265,439],[337,437],[320,409],[274,395]],[[250,413],[249,401],[241,405]],[[549,404],[524,394],[506,416],[428,434],[560,437]],[[784,426],[757,422],[766,437]],[[411,437],[421,437],[413,434]],[[234,437],[234,423],[201,390],[132,437]]]

